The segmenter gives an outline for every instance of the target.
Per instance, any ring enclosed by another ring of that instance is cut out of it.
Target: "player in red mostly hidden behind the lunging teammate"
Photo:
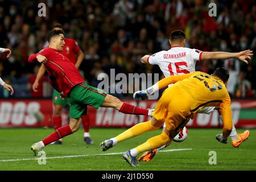
[[[63,31],[63,26],[60,23],[56,23],[53,25],[52,30],[61,30]],[[84,53],[81,51],[80,47],[78,46],[77,42],[73,39],[65,38],[65,45],[63,47],[63,50],[60,52],[62,55],[67,57],[71,62],[75,65],[77,69],[79,69],[82,60],[84,59]],[[34,92],[38,91],[38,85],[39,81],[44,76],[44,73],[46,72],[46,68],[42,64],[38,75],[36,76],[35,82],[32,85],[32,89]],[[54,111],[52,116],[53,126],[54,129],[57,130],[61,127],[61,111],[65,105],[68,105],[68,100],[64,99],[62,100],[60,98],[59,92],[56,90],[53,90],[53,96],[52,96],[52,102],[54,105]],[[90,126],[90,118],[88,115],[82,116],[82,126],[84,126],[84,141],[87,144],[93,144],[93,140],[90,138],[89,133],[89,126]],[[62,144],[62,140],[57,140],[56,142],[53,142],[53,144]]]

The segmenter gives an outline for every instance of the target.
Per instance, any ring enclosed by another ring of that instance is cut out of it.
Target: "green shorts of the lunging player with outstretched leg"
[[[87,105],[98,109],[104,102],[106,95],[107,93],[103,90],[85,83],[74,86],[68,93],[69,117],[80,118],[87,113]]]

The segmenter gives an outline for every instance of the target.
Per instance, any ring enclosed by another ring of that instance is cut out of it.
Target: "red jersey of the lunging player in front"
[[[60,51],[46,47],[39,53],[35,53],[28,58],[28,62],[36,61],[36,56],[42,55],[47,58],[44,66],[49,73],[49,83],[57,92],[63,92],[65,97],[70,90],[77,84],[81,84],[84,78],[79,73],[79,70],[67,57],[63,56]]]

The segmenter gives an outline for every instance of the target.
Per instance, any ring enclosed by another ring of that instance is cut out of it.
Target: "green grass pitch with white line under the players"
[[[83,130],[63,139],[62,145],[49,145],[44,148],[46,164],[35,160],[30,146],[47,137],[53,129],[1,129],[0,130],[0,170],[93,170],[93,171],[174,171],[174,170],[256,170],[256,130],[250,130],[250,137],[239,148],[232,144],[217,142],[215,135],[221,129],[188,129],[184,142],[172,142],[166,150],[188,149],[181,151],[159,152],[151,162],[141,162],[140,167],[130,167],[122,159],[122,154],[102,155],[125,152],[138,146],[161,132],[144,133],[133,139],[119,143],[102,152],[100,142],[115,137],[125,129],[90,129],[94,141],[92,146],[85,144]],[[238,132],[244,131],[237,129]],[[210,151],[216,152],[216,165],[209,164]]]

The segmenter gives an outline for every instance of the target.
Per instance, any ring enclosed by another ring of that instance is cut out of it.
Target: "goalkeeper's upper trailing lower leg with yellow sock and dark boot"
[[[112,148],[117,143],[122,142],[123,140],[127,140],[129,138],[136,137],[146,131],[153,131],[159,129],[162,126],[162,123],[156,123],[156,119],[152,118],[150,121],[138,123],[134,125],[130,129],[124,131],[123,133],[119,134],[117,137],[107,139],[104,142],[101,142],[100,146],[102,151],[106,151],[109,148]]]

